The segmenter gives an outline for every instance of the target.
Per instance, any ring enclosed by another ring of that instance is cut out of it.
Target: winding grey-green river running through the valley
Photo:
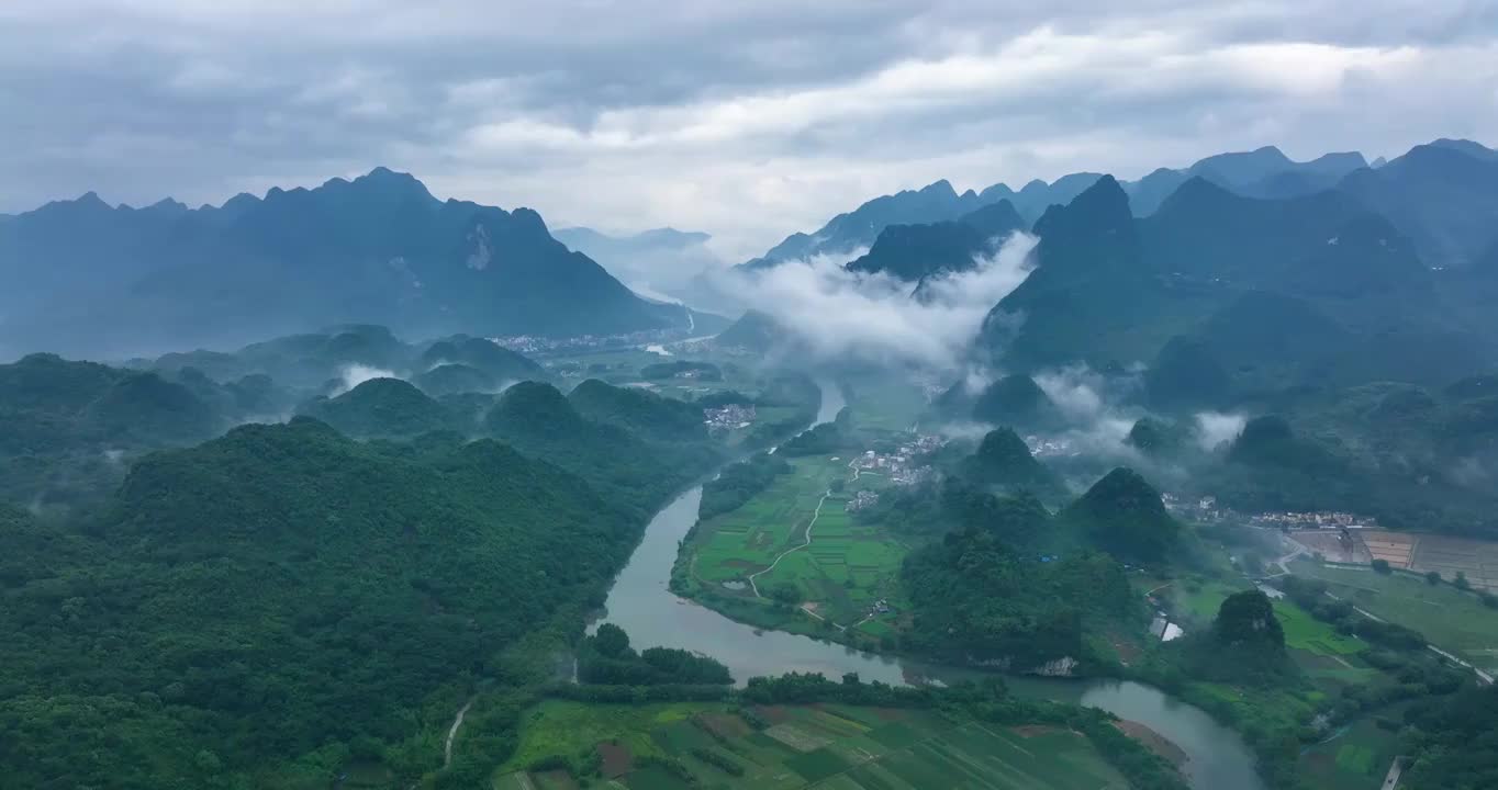
[[[830,422],[842,410],[836,386],[822,382],[816,422]],[[665,506],[646,527],[644,539],[608,592],[602,621],[629,633],[638,648],[668,646],[712,655],[743,682],[756,675],[821,672],[828,678],[857,672],[864,681],[908,685],[956,681],[974,670],[857,651],[785,631],[767,631],[728,619],[667,588],[680,542],[697,524],[701,486]],[[1189,760],[1183,774],[1198,790],[1263,790],[1254,757],[1243,739],[1206,712],[1162,691],[1131,681],[1043,681],[1005,678],[1017,694],[1103,708],[1119,718],[1138,721],[1173,741]]]

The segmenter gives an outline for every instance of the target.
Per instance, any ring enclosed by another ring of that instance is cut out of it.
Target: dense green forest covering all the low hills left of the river
[[[45,516],[0,506],[13,781],[310,789],[361,760],[430,772],[440,751],[424,733],[454,694],[544,679],[649,510],[721,458],[701,407],[599,382],[571,399],[544,383],[469,392],[464,376],[541,368],[482,340],[418,349],[355,328],[151,371],[0,365],[0,462],[18,471],[3,494]],[[460,392],[376,376],[324,388],[289,423],[187,447],[292,408],[352,361],[461,368],[445,377]],[[55,518],[52,501],[87,507]],[[629,682],[728,682],[679,652],[610,661]]]

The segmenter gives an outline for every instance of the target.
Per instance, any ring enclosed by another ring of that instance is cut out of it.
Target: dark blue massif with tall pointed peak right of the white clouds
[[[1213,367],[1254,388],[1303,376],[1438,383],[1485,370],[1498,350],[1476,292],[1443,289],[1410,238],[1341,190],[1255,199],[1192,178],[1134,218],[1124,187],[1104,178],[1035,232],[1035,271],[984,332],[1010,370],[1155,361],[1197,376],[1215,355]],[[1243,301],[1254,293],[1272,298]],[[1281,338],[1285,310],[1290,325],[1318,331]],[[1195,362],[1158,358],[1188,349]],[[1287,367],[1299,374],[1284,379]],[[1213,389],[1243,395],[1231,383]]]

